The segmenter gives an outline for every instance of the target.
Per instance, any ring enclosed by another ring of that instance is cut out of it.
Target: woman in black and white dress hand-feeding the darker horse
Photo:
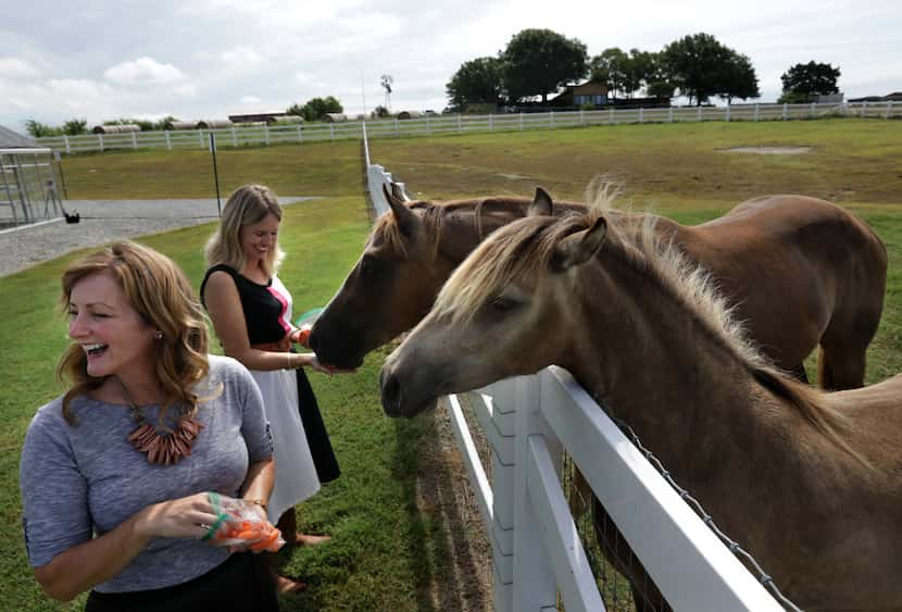
[[[229,197],[222,223],[206,246],[200,293],[224,352],[251,372],[273,433],[276,478],[268,513],[289,545],[328,538],[297,534],[293,507],[310,498],[339,469],[316,398],[303,367],[331,373],[314,353],[293,352],[300,329],[291,324],[291,295],[277,276],[281,207],[262,185],[246,185]],[[280,592],[303,583],[278,577]]]

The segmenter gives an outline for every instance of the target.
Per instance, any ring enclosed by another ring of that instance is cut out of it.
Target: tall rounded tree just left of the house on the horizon
[[[576,38],[550,29],[524,29],[502,53],[504,89],[512,100],[548,95],[586,77],[588,52]]]

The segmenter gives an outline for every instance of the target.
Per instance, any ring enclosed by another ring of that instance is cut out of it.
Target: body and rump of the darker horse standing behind
[[[887,251],[841,207],[805,196],[754,198],[716,220],[680,227],[678,236],[778,365],[798,366],[818,344],[863,355],[874,337]]]

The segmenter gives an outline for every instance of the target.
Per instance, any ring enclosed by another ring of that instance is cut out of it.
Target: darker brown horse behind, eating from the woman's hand
[[[383,215],[311,334],[324,363],[356,367],[371,350],[416,325],[463,259],[497,228],[526,215],[536,199],[487,198],[404,204],[389,196]],[[554,214],[585,211],[556,203]],[[626,214],[626,213],[617,213]],[[709,270],[774,363],[804,379],[803,360],[820,345],[824,388],[861,387],[865,351],[880,321],[887,253],[843,209],[803,196],[740,203],[698,226],[655,217],[655,232]]]

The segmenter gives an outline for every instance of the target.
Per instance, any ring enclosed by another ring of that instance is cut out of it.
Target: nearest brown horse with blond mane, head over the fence
[[[490,236],[386,360],[386,413],[561,365],[797,604],[902,607],[902,376],[831,395],[786,377],[711,276],[624,221],[535,216]]]

